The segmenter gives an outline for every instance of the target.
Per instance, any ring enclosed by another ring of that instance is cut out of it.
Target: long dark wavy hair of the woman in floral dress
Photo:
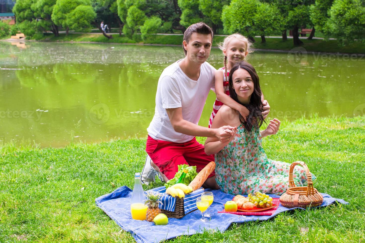
[[[252,82],[254,83],[254,91],[251,95],[249,104],[243,104],[238,101],[236,91],[234,90],[233,87],[232,76],[233,73],[239,68],[245,69],[250,74]],[[262,117],[261,114],[264,106],[262,105],[261,101],[262,93],[260,89],[259,78],[255,68],[250,63],[247,63],[245,61],[241,61],[239,63],[234,64],[234,66],[231,68],[229,72],[228,83],[229,83],[229,93],[231,98],[234,99],[236,102],[240,103],[241,105],[245,106],[250,111],[250,114],[248,115],[246,121],[240,115],[239,120],[241,121],[241,123],[245,126],[246,130],[249,132],[253,127],[260,128],[262,122],[264,122],[264,117]]]

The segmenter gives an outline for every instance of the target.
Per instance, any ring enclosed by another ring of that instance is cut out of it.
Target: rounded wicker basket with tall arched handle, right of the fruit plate
[[[301,165],[306,170],[308,185],[306,187],[296,187],[293,179],[293,171],[296,165]],[[312,174],[308,166],[303,161],[296,161],[290,165],[289,188],[280,197],[280,203],[287,208],[307,208],[316,207],[323,203],[323,196],[313,187]]]

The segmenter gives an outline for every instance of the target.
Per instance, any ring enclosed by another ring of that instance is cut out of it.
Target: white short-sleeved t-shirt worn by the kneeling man
[[[200,65],[197,81],[190,79],[181,70],[178,62],[166,67],[158,80],[155,114],[147,128],[148,134],[155,140],[183,143],[194,136],[175,132],[166,109],[182,107],[183,119],[198,124],[209,91],[214,90],[216,69],[204,62]]]

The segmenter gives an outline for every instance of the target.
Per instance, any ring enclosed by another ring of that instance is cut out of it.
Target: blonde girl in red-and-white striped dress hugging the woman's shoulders
[[[250,48],[251,42],[243,35],[233,34],[224,38],[223,42],[218,46],[224,54],[224,67],[219,68],[215,73],[215,94],[217,98],[213,105],[208,128],[211,127],[215,115],[223,104],[237,110],[242,115],[243,119],[246,119],[249,114],[249,110],[247,110],[245,106],[234,101],[230,97],[228,90],[228,75],[234,64],[241,62],[245,59],[247,54],[252,52]]]

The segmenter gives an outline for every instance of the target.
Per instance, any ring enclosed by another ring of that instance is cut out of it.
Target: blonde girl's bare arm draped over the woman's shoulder
[[[229,95],[226,95],[226,93],[224,93],[223,77],[224,77],[223,70],[218,69],[215,72],[215,95],[217,96],[217,99],[221,101],[223,104],[231,107],[232,109],[237,110],[242,115],[243,119],[246,120],[246,117],[250,114],[250,111],[245,106],[236,102]]]

